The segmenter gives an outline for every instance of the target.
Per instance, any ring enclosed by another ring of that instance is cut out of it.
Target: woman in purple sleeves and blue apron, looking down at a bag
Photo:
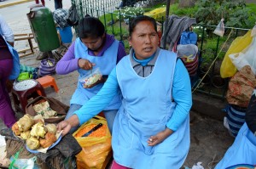
[[[74,70],[79,72],[77,88],[70,100],[66,119],[100,91],[113,67],[126,55],[124,45],[105,32],[105,27],[100,20],[85,16],[79,21],[78,29],[79,37],[56,65],[56,72],[60,75],[66,75]],[[84,87],[79,82],[80,79],[96,68],[101,70],[102,78],[93,85]],[[112,132],[113,120],[120,104],[120,95],[116,94],[103,110],[110,132]],[[78,127],[73,127],[70,132],[75,132],[77,129]]]

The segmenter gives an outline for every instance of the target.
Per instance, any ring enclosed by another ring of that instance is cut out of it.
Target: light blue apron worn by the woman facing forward
[[[117,79],[123,95],[113,123],[113,158],[135,169],[170,169],[183,165],[189,152],[189,115],[161,144],[148,146],[148,138],[166,129],[176,104],[172,102],[172,80],[176,54],[160,50],[154,70],[138,76],[129,56],[117,65]]]

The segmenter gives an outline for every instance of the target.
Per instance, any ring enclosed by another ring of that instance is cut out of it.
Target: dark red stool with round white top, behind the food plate
[[[39,82],[32,79],[16,83],[12,89],[12,95],[14,98],[15,109],[20,110],[23,113],[26,113],[28,99],[35,99],[39,95],[46,97],[44,87],[42,87]]]

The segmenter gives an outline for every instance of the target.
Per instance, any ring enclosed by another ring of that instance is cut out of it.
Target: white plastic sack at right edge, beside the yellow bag
[[[251,44],[241,53],[230,54],[231,62],[236,66],[237,70],[241,70],[246,65],[249,65],[256,75],[256,37],[253,37]]]

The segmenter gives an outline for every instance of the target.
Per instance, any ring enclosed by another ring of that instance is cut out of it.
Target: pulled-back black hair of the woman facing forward
[[[132,32],[134,31],[135,26],[142,22],[142,21],[149,21],[152,23],[152,25],[154,25],[154,30],[157,31],[156,28],[156,21],[154,20],[154,18],[151,18],[149,16],[146,15],[139,15],[136,18],[132,19],[129,25],[129,35],[131,37]]]

